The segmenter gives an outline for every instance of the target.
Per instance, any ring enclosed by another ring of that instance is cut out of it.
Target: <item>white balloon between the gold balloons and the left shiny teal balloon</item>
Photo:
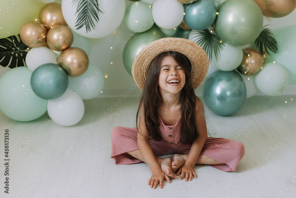
[[[47,47],[34,47],[26,56],[26,65],[33,72],[38,66],[46,63],[57,64],[57,59],[52,50]]]

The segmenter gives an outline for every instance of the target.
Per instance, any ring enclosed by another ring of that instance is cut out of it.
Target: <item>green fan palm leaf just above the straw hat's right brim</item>
[[[220,42],[219,37],[212,34],[208,29],[196,31],[193,34],[196,34],[196,36],[193,37],[193,41],[205,50],[209,57],[209,61],[212,61],[213,55],[219,60],[221,50],[223,50],[224,46],[224,43]]]

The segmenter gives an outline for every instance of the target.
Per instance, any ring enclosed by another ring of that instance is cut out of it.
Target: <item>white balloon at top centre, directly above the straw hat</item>
[[[184,18],[184,7],[177,0],[156,0],[152,6],[152,17],[157,26],[176,28]]]

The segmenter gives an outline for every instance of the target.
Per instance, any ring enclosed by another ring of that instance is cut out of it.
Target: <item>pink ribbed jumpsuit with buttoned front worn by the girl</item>
[[[188,154],[191,145],[181,144],[180,128],[181,118],[174,126],[166,126],[159,118],[160,132],[162,139],[156,141],[149,138],[149,143],[155,156],[168,155],[172,153]],[[111,158],[115,164],[133,164],[141,162],[127,152],[138,150],[137,129],[130,127],[116,126],[111,133]],[[221,171],[236,171],[239,161],[244,156],[244,145],[235,140],[225,138],[207,137],[201,153],[211,159],[224,164],[208,165]]]

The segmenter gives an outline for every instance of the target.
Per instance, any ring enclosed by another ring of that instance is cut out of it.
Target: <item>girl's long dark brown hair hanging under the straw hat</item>
[[[178,52],[163,52],[157,55],[151,62],[148,71],[147,78],[144,87],[144,91],[141,95],[139,108],[136,115],[136,127],[138,129],[138,115],[141,110],[142,104],[144,105],[144,119],[145,126],[153,139],[160,141],[161,136],[157,130],[160,126],[158,121],[157,110],[161,109],[163,104],[163,99],[159,92],[159,87],[157,86],[160,74],[161,64],[166,56],[171,56],[175,61],[182,67],[185,72],[186,81],[180,94],[181,103],[181,143],[192,144],[194,138],[196,137],[196,127],[195,127],[195,103],[197,96],[192,88],[191,80],[191,63],[189,59],[181,53]]]

